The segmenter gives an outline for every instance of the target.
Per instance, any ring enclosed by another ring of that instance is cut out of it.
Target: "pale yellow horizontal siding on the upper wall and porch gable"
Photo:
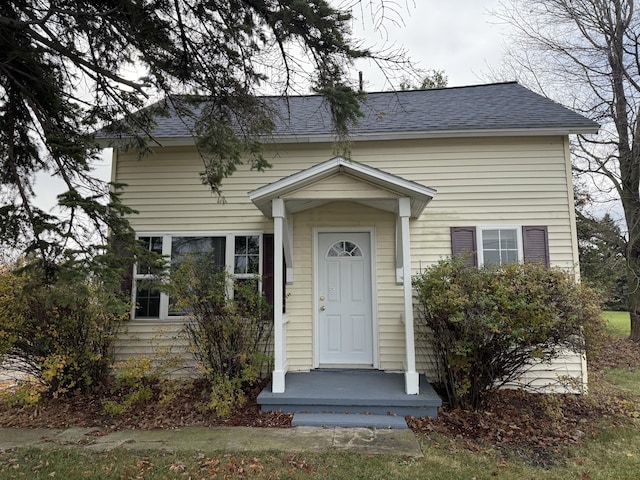
[[[413,268],[450,254],[449,227],[483,223],[549,226],[550,260],[572,268],[570,197],[562,137],[433,139],[363,142],[352,146],[353,160],[437,190],[419,221],[412,221]],[[265,230],[272,222],[248,199],[265,184],[325,161],[329,144],[267,147],[273,168],[239,167],[223,185],[224,200],[202,185],[202,160],[194,148],[157,149],[138,160],[121,154],[116,181],[128,184],[123,200],[138,210],[139,231]],[[356,186],[359,185],[359,186]],[[374,187],[339,175],[292,197],[339,195],[358,198]],[[364,193],[363,193],[364,192]],[[385,192],[388,193],[388,192]],[[416,242],[416,238],[424,241]]]

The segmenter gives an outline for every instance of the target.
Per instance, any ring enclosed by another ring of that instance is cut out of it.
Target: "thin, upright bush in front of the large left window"
[[[242,402],[243,389],[269,369],[271,307],[257,278],[234,281],[213,254],[186,256],[171,281],[176,307],[188,319],[192,352],[212,383],[212,408],[228,413],[227,403]]]

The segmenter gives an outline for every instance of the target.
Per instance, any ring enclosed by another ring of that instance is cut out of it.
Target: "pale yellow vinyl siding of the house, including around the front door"
[[[573,269],[577,245],[572,227],[573,197],[566,137],[486,137],[356,142],[354,161],[437,190],[419,219],[410,222],[412,270],[451,254],[450,227],[546,225],[550,261]],[[138,160],[119,153],[114,180],[128,186],[123,201],[138,210],[131,223],[138,232],[273,231],[273,221],[247,193],[334,156],[330,144],[266,147],[273,168],[240,166],[223,183],[223,199],[202,185],[204,168],[194,147],[158,148]],[[289,194],[289,198],[354,200],[387,198],[389,192],[347,175]],[[348,205],[348,208],[347,208]],[[294,283],[287,285],[287,359],[291,370],[313,367],[313,228],[375,227],[379,366],[400,370],[404,358],[402,287],[395,284],[395,215],[343,201],[292,216]],[[152,328],[153,322],[149,323]],[[133,349],[134,347],[129,347]],[[132,352],[132,350],[128,350]],[[418,370],[432,368],[429,352],[417,350]]]

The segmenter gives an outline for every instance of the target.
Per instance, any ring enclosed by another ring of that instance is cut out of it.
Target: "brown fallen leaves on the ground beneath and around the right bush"
[[[533,463],[546,464],[559,447],[586,438],[595,419],[609,414],[635,415],[636,402],[598,390],[600,371],[621,365],[640,366],[640,345],[626,339],[610,339],[598,357],[589,362],[592,385],[589,396],[501,390],[489,398],[483,410],[443,410],[438,420],[410,417],[409,427],[415,432],[437,432],[461,441],[451,440],[450,449],[454,448],[452,445],[460,445],[467,450],[482,451],[490,445],[524,450]]]

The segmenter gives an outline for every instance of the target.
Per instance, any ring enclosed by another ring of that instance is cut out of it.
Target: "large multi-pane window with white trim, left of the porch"
[[[147,248],[167,257],[172,267],[180,263],[186,255],[213,253],[216,267],[231,273],[234,284],[253,282],[261,287],[256,275],[262,274],[262,236],[257,233],[226,233],[211,235],[147,235],[139,236]],[[232,248],[229,248],[232,247]],[[166,319],[184,315],[175,308],[166,293],[154,290],[149,285],[153,275],[149,268],[136,266],[134,272],[133,298],[135,299],[133,318]],[[233,288],[230,285],[230,294]]]

